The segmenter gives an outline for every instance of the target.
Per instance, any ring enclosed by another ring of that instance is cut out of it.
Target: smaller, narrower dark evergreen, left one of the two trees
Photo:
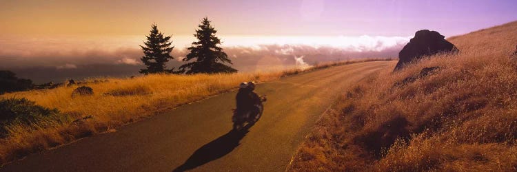
[[[170,36],[163,36],[163,33],[159,32],[155,23],[153,23],[151,27],[151,33],[146,36],[147,41],[144,42],[145,46],[140,45],[144,54],[140,60],[147,67],[146,69],[140,69],[140,73],[172,73],[174,68],[168,70],[165,67],[165,63],[173,58],[170,55],[170,52],[174,46],[170,46],[172,44],[172,41],[170,41]]]

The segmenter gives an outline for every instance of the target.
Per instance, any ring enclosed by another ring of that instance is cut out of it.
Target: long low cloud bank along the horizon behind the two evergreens
[[[396,57],[409,41],[401,36],[221,36],[224,51],[240,72],[307,67],[351,58]],[[143,67],[141,37],[0,38],[0,69],[38,83],[66,78],[134,76]],[[178,67],[192,42],[173,36],[170,67]]]

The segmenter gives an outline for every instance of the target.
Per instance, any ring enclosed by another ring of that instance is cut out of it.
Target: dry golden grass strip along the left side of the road
[[[384,59],[325,63],[305,70],[254,74],[154,74],[125,79],[108,78],[108,82],[85,84],[92,87],[93,96],[73,98],[72,91],[81,85],[4,94],[0,98],[27,98],[37,105],[59,109],[61,117],[60,120],[44,121],[30,127],[2,126],[7,127],[9,133],[7,138],[0,138],[0,164],[95,133],[114,131],[114,128],[128,122],[235,89],[243,81],[274,80],[313,69],[374,60]]]

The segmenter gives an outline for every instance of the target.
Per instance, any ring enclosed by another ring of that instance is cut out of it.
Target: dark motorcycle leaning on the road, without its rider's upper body
[[[245,114],[239,114],[237,109],[233,109],[232,122],[234,122],[233,129],[241,131],[244,127],[251,127],[255,122],[259,121],[264,111],[263,103],[267,100],[265,96],[260,96],[256,101],[254,109],[246,111]],[[247,125],[245,125],[247,123]]]

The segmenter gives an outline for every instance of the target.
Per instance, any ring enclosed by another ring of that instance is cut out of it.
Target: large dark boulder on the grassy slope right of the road
[[[394,69],[402,69],[405,64],[438,53],[457,53],[458,48],[445,40],[445,36],[436,31],[418,30],[409,43],[398,53],[398,63]]]

